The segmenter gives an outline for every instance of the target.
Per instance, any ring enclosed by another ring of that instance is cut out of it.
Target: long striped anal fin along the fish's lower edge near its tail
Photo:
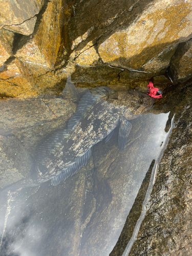
[[[86,165],[89,158],[91,156],[91,148],[77,161],[69,166],[69,168],[63,170],[59,175],[55,176],[54,178],[51,179],[51,185],[56,186],[58,185],[61,181],[66,180],[68,177],[71,177],[74,175],[77,170],[79,170],[83,165]]]

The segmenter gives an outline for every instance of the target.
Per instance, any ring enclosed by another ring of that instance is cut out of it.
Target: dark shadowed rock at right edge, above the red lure
[[[170,65],[169,76],[173,81],[186,81],[192,77],[192,40],[179,45]]]

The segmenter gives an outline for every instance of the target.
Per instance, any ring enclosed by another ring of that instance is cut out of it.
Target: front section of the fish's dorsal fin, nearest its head
[[[68,130],[73,129],[78,121],[86,114],[86,112],[91,108],[91,106],[98,100],[97,96],[94,96],[87,89],[86,94],[84,94],[75,111],[75,114],[68,120]]]

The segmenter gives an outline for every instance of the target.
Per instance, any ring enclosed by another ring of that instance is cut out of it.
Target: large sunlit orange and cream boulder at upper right
[[[154,1],[129,27],[120,27],[105,39],[101,37],[99,56],[113,66],[151,72],[152,76],[161,74],[169,66],[178,43],[190,38],[191,22],[188,3]]]

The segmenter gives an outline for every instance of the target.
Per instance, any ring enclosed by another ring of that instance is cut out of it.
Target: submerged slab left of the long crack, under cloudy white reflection
[[[7,209],[13,206],[14,210],[10,210],[10,214],[6,208],[0,212],[1,234],[5,227],[1,253],[78,255],[85,179],[86,170],[83,169],[62,186],[46,184],[10,195]],[[1,200],[1,203],[4,202]],[[4,221],[6,213],[8,220]],[[9,218],[15,225],[8,234]],[[17,245],[11,242],[13,238],[18,241]]]

